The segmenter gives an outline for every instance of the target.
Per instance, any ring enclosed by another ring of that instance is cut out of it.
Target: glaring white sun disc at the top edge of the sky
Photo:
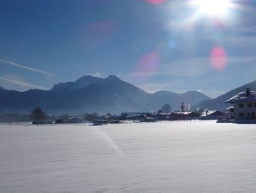
[[[193,3],[199,8],[199,12],[211,16],[223,16],[230,8],[230,0],[195,0]]]

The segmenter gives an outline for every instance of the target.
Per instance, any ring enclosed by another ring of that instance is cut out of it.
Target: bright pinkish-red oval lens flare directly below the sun
[[[210,61],[214,69],[222,71],[227,66],[227,53],[222,47],[212,49]]]

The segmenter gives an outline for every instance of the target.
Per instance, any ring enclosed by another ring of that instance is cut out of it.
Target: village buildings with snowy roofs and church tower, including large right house
[[[225,112],[220,110],[202,110],[201,112],[185,110],[184,103],[181,109],[175,112],[125,112],[120,115],[107,113],[106,116],[94,117],[91,121],[94,125],[101,124],[119,124],[123,121],[134,122],[155,122],[162,120],[217,120],[218,123],[256,123],[256,92],[246,89],[237,93],[225,103],[230,103]],[[86,117],[71,117],[68,120],[56,120],[55,124],[81,124],[85,123]]]

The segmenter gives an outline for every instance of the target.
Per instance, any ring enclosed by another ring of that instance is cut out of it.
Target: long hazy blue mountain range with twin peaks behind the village
[[[0,113],[29,113],[40,106],[47,113],[121,113],[157,111],[164,103],[172,110],[210,100],[197,91],[147,93],[116,76],[105,79],[82,76],[74,82],[58,83],[51,90],[18,92],[0,87]]]

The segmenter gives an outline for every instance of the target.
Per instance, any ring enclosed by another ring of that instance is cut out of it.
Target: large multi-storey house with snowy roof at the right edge
[[[229,108],[235,120],[239,119],[256,119],[256,92],[246,89],[244,92],[238,93],[225,103],[232,103],[234,109]]]

